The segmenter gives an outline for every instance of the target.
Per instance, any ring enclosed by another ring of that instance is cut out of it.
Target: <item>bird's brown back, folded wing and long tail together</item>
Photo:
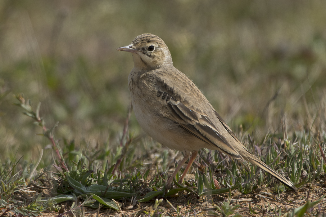
[[[154,79],[157,87],[156,96],[161,98],[161,102],[165,102],[166,107],[169,109],[163,112],[167,118],[172,119],[180,127],[202,141],[215,146],[216,149],[235,159],[245,159],[251,162],[289,188],[297,191],[297,188],[289,180],[267,166],[256,156],[253,156],[244,147],[190,79],[183,74],[178,74],[179,71],[174,72],[176,74],[174,74],[173,79],[180,81],[178,87],[169,85],[170,83],[167,80]]]

